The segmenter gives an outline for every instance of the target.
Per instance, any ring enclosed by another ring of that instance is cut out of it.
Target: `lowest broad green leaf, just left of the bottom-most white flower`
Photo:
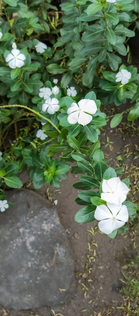
[[[92,204],[81,208],[75,215],[75,221],[77,223],[89,223],[95,221],[95,209],[96,206]]]

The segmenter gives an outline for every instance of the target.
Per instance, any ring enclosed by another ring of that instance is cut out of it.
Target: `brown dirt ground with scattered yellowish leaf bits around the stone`
[[[101,136],[106,160],[112,158],[109,165],[114,168],[124,164],[125,178],[130,176],[131,188],[137,186],[134,168],[137,165],[139,143],[137,145],[135,128],[127,121],[126,127],[120,124],[118,132],[108,126]],[[71,302],[51,308],[43,306],[33,311],[9,310],[1,306],[0,316],[122,316],[122,309],[117,308],[122,302],[119,290],[126,260],[136,255],[134,238],[131,231],[126,234],[125,229],[122,229],[121,234],[110,239],[99,232],[97,221],[88,224],[74,221],[75,213],[81,208],[75,203],[79,191],[72,186],[78,181],[78,176],[68,173],[60,189],[44,186],[37,190],[39,194],[52,199],[52,202],[58,200],[59,217],[68,235],[75,262],[76,292]],[[138,196],[133,196],[131,190],[130,198],[134,201]],[[136,243],[138,241],[139,237]]]

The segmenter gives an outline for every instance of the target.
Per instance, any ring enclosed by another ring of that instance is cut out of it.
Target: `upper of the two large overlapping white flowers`
[[[115,177],[109,180],[103,180],[102,191],[102,200],[120,205],[125,201],[129,188],[119,178]]]

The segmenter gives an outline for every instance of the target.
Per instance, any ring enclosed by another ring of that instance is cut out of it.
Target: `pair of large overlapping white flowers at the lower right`
[[[119,178],[103,180],[101,199],[107,205],[99,205],[95,210],[95,219],[99,222],[99,229],[105,234],[111,234],[128,221],[128,209],[125,201],[129,188]]]

